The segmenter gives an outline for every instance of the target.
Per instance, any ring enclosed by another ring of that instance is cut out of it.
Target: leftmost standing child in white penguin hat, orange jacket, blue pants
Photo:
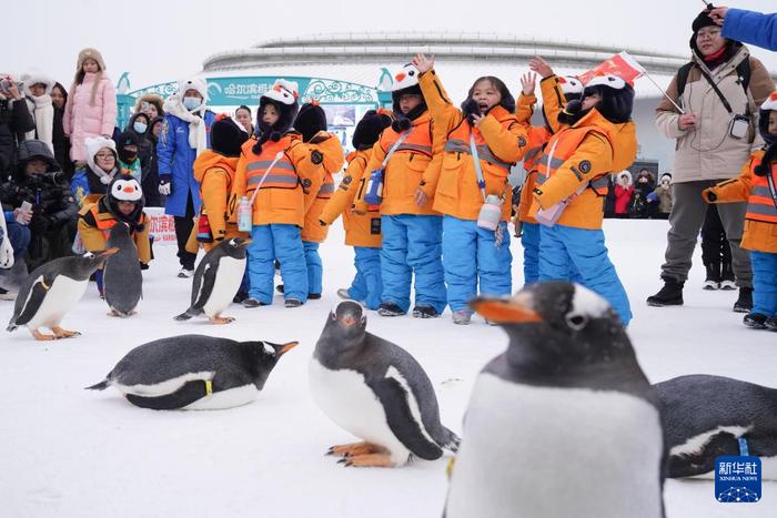
[[[230,213],[236,217],[243,196],[252,210],[249,246],[251,287],[245,307],[272,304],[275,260],[281,263],[286,307],[307,301],[307,266],[302,245],[305,199],[316,193],[324,173],[321,152],[292,130],[297,112],[296,83],[279,79],[259,100],[259,140],[243,144],[232,183]],[[255,194],[255,196],[254,196]]]

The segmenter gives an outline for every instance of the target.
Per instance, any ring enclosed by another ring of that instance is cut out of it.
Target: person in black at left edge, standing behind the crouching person
[[[24,133],[36,129],[20,83],[8,74],[0,73],[0,179],[8,180],[13,170],[17,146]]]

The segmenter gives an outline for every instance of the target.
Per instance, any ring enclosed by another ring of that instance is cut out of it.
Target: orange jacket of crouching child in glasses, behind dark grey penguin
[[[89,252],[102,252],[107,247],[111,228],[119,222],[113,214],[101,203],[105,196],[99,196],[93,203],[87,203],[79,211],[78,232],[83,241],[83,246]],[[149,216],[142,213],[139,224],[143,225],[140,232],[133,232],[132,241],[138,247],[138,258],[143,264],[151,262],[151,242],[149,241]]]

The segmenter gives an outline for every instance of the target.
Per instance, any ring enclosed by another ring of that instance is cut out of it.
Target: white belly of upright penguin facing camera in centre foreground
[[[385,409],[362,374],[332,370],[315,358],[309,374],[313,399],[330,419],[354,436],[389,449],[397,466],[407,461],[410,450],[389,427]]]

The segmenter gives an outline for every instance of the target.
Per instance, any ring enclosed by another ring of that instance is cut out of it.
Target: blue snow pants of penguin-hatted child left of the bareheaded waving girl
[[[415,274],[415,305],[445,309],[443,274],[443,219],[416,214],[381,216],[382,302],[410,308],[410,287]]]

